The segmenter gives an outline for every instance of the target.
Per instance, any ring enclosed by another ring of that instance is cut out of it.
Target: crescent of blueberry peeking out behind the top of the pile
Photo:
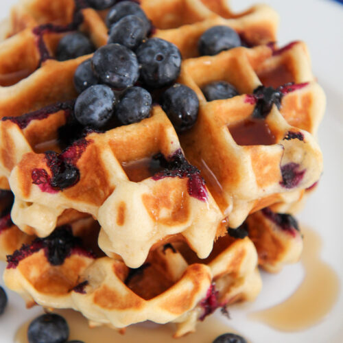
[[[121,18],[123,18],[124,16],[130,16],[131,14],[141,18],[144,22],[145,29],[147,31],[150,30],[151,25],[149,19],[147,19],[147,16],[145,15],[141,7],[137,3],[134,3],[132,1],[121,1],[114,5],[107,14],[106,25],[110,28]]]

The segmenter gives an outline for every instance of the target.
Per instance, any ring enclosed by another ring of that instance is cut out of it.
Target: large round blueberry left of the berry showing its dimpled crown
[[[92,64],[99,80],[116,89],[133,86],[139,78],[137,57],[123,45],[112,43],[97,49]]]

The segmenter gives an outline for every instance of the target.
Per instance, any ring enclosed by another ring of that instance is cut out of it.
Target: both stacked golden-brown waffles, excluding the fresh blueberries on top
[[[216,307],[255,298],[257,263],[275,272],[298,259],[300,234],[285,229],[279,214],[258,210],[287,211],[318,180],[322,156],[311,134],[324,94],[304,43],[271,43],[279,19],[268,6],[235,14],[224,0],[143,0],[152,36],[176,44],[184,58],[178,82],[200,99],[196,126],[178,136],[154,106],[140,123],[88,132],[62,151],[58,131],[77,96],[73,74],[91,56],[58,62],[58,42],[73,29],[95,47],[108,38],[106,11],[76,3],[21,0],[0,43],[0,117],[10,117],[0,121],[0,188],[14,191],[12,220],[23,232],[49,236],[14,252],[5,282],[28,305],[77,309],[93,325],[115,328],[176,322],[180,337]],[[214,25],[233,27],[245,47],[198,57],[198,39]],[[240,96],[206,102],[201,88],[217,80]],[[283,95],[265,119],[251,117],[263,103],[259,86]],[[239,143],[243,121],[270,130],[271,141]],[[78,179],[61,188],[54,180],[64,168],[77,170]],[[226,234],[244,220],[249,237]],[[56,228],[64,224],[71,228]],[[61,230],[69,230],[67,254],[56,263],[51,241]],[[0,232],[1,253],[31,242],[23,232]]]

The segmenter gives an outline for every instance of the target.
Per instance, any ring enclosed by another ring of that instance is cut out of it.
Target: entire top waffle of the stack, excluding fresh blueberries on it
[[[152,35],[174,43],[184,58],[178,82],[198,96],[196,125],[177,136],[154,106],[150,118],[89,133],[62,151],[54,140],[73,110],[73,74],[90,56],[58,62],[58,42],[75,29],[95,47],[107,42],[106,11],[81,2],[22,1],[12,12],[10,38],[1,44],[0,115],[10,117],[0,123],[6,142],[1,187],[10,180],[19,228],[45,237],[66,214],[88,213],[102,225],[101,248],[130,267],[167,241],[186,241],[204,258],[225,225],[237,227],[248,213],[298,200],[318,180],[322,157],[311,134],[324,95],[303,43],[287,49],[266,44],[276,40],[278,17],[264,5],[233,14],[225,1],[142,1],[156,27]],[[198,39],[215,25],[235,29],[246,47],[198,57]],[[233,84],[239,96],[206,102],[201,88],[218,80]],[[268,86],[276,88],[279,102],[265,111]],[[262,137],[248,137],[246,126]],[[40,153],[45,150],[54,152]],[[77,182],[56,187],[65,170]]]

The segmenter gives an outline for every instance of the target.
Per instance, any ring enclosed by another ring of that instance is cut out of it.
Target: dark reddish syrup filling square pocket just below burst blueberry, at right
[[[272,145],[276,142],[263,119],[248,118],[228,126],[228,130],[238,145]]]

